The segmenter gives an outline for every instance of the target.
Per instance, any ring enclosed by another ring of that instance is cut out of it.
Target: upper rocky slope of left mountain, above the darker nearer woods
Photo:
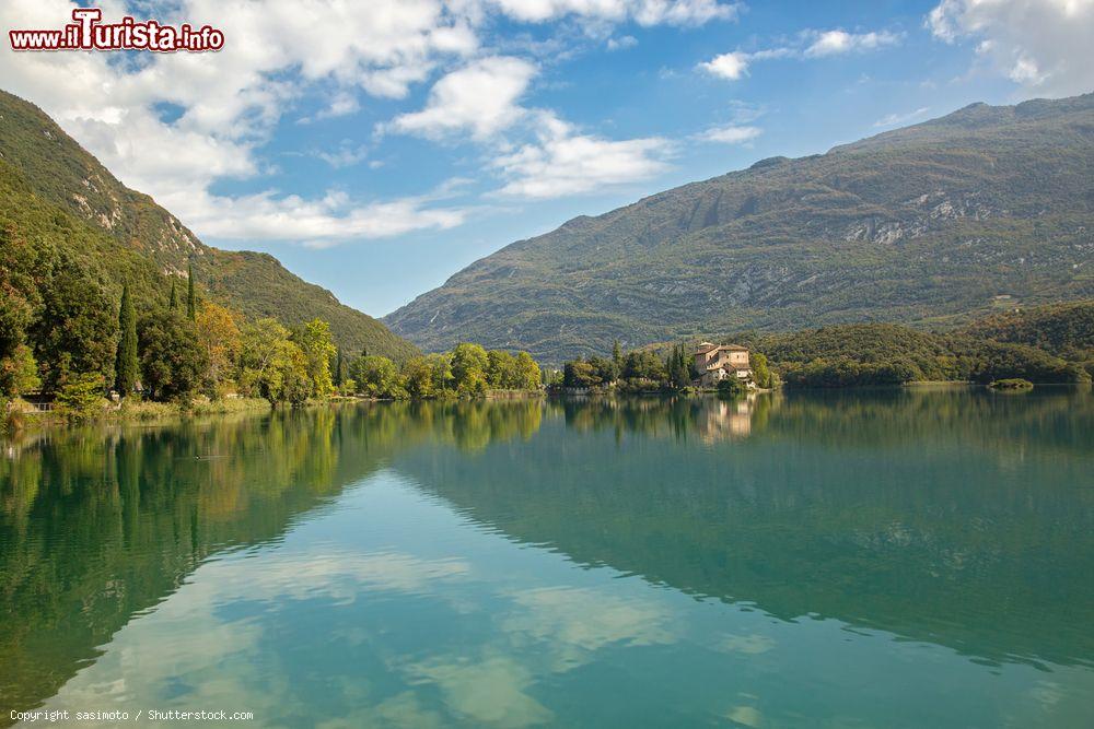
[[[152,198],[125,187],[40,109],[5,92],[0,92],[0,163],[5,163],[0,175],[9,188],[102,230],[121,244],[124,255],[135,251],[158,271],[182,277],[193,260],[195,278],[211,297],[248,317],[275,317],[287,325],[319,317],[350,351],[368,348],[396,360],[416,352],[383,324],[303,281],[272,256],[206,246]],[[109,275],[115,267],[103,269]]]

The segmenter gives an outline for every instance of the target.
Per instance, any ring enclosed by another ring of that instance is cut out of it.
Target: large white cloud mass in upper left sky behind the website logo
[[[97,4],[107,20],[126,13],[115,0]],[[5,0],[0,25],[59,27],[73,7],[67,0]],[[209,191],[223,178],[264,172],[258,151],[311,84],[335,89],[317,119],[351,114],[360,90],[405,95],[407,84],[424,79],[437,62],[474,52],[478,42],[466,19],[438,0],[181,0],[142,5],[141,13],[213,24],[228,43],[216,56],[148,54],[131,63],[109,54],[14,54],[2,44],[0,78],[199,235],[323,245],[464,220],[463,210],[431,208],[422,198],[351,202],[274,190],[236,197]],[[156,111],[163,103],[182,115],[163,121]],[[342,154],[328,162],[350,160]]]

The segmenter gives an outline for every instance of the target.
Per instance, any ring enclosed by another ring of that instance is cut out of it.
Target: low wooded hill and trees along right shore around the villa
[[[749,348],[753,381],[767,389],[854,387],[912,381],[1022,378],[1084,383],[1094,352],[1094,302],[1047,305],[992,315],[959,331],[927,332],[895,324],[849,324],[803,331],[707,337]],[[567,362],[558,385],[621,390],[679,390],[698,377],[680,375],[680,356],[696,340],[654,344],[622,355]]]

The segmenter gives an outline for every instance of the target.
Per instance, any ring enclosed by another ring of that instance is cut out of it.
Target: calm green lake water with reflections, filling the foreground
[[[1089,391],[375,404],[0,448],[0,725],[1094,724]]]

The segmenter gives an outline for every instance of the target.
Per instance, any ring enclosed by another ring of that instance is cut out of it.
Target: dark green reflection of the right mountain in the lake
[[[520,448],[396,467],[517,541],[695,596],[1094,661],[1086,393],[761,397],[747,428],[717,400],[562,410]]]

